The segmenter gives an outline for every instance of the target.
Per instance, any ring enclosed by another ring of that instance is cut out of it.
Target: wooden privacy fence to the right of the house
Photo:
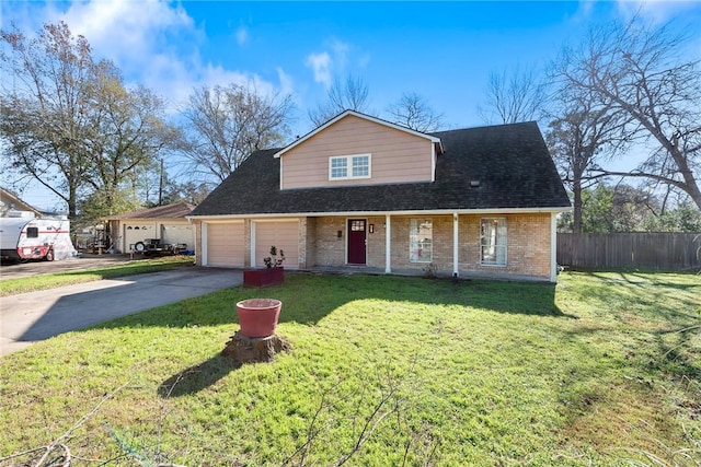
[[[701,233],[559,233],[558,264],[594,269],[701,268]]]

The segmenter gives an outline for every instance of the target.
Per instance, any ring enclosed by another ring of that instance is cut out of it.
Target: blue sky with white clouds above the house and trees
[[[629,19],[701,24],[701,2],[233,2],[76,1],[1,3],[2,27],[34,34],[64,20],[99,57],[114,60],[175,112],[193,86],[254,83],[290,93],[294,133],[334,79],[361,78],[370,112],[383,116],[403,92],[425,97],[447,127],[484,125],[478,115],[491,71],[542,69],[587,27]],[[701,33],[690,50],[701,57]],[[48,208],[51,197],[24,192]]]

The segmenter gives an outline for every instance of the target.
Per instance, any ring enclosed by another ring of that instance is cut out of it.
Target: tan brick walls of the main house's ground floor
[[[507,223],[506,266],[483,266],[480,260],[480,223],[484,218],[504,218]],[[386,268],[386,217],[320,217],[301,218],[299,229],[299,268],[342,267],[346,265],[348,219],[365,219],[367,232],[367,266]],[[410,225],[412,219],[433,222],[433,260],[435,271],[450,276],[453,268],[453,224],[451,215],[391,217],[391,269],[393,272],[422,272],[429,262],[410,261]],[[372,224],[372,232],[369,226]],[[550,279],[551,214],[462,214],[458,218],[458,261],[460,276],[479,273],[495,277],[532,277]],[[197,245],[202,245],[202,223],[195,222]],[[250,266],[251,219],[245,220],[244,243]],[[202,265],[198,256],[197,265]]]

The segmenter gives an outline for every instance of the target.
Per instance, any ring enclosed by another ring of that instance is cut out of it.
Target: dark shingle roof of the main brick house
[[[279,149],[269,149],[251,154],[192,215],[570,207],[535,121],[432,135],[445,149],[434,183],[280,190]]]

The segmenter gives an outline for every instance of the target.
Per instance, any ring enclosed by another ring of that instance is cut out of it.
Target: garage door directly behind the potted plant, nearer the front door
[[[265,266],[271,246],[285,252],[284,267],[299,267],[299,221],[255,222],[255,266]]]

